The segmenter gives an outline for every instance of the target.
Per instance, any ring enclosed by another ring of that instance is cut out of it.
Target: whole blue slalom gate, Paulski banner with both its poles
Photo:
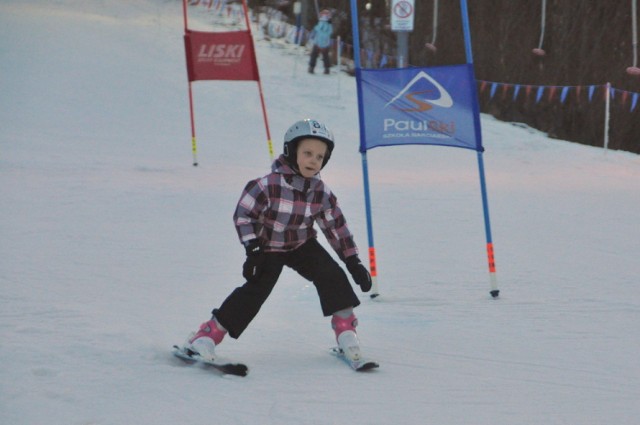
[[[500,294],[489,220],[489,201],[484,175],[484,148],[480,128],[480,108],[473,70],[471,30],[467,0],[460,0],[460,17],[464,36],[465,64],[439,67],[403,67],[394,69],[363,69],[360,62],[360,29],[358,2],[351,0],[358,120],[364,201],[369,240],[369,270],[371,298],[378,291],[378,267],[373,240],[369,165],[367,150],[379,146],[441,145],[476,151],[482,194],[482,211],[487,239],[490,294]],[[437,3],[436,3],[437,4]],[[397,5],[397,3],[396,3]],[[395,12],[412,12],[413,5],[404,2]],[[406,15],[406,13],[405,13]]]

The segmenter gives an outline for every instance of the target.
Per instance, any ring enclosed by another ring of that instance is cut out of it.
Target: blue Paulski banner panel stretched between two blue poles
[[[473,65],[357,71],[360,152],[393,145],[483,150]]]

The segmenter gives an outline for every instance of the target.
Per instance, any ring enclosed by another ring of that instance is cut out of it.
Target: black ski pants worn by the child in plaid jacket
[[[293,251],[265,255],[262,274],[234,289],[220,308],[213,310],[213,315],[232,338],[238,338],[258,314],[284,266],[313,282],[324,316],[360,304],[346,273],[317,239],[310,239]]]

